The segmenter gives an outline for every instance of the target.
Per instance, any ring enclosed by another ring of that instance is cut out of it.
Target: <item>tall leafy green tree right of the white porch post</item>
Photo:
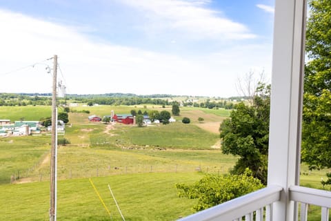
[[[303,94],[303,162],[331,168],[331,1],[310,0]]]

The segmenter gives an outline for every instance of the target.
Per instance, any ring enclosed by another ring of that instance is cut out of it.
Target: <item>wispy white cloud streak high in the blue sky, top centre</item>
[[[256,36],[242,23],[208,8],[210,1],[183,0],[122,0],[128,6],[141,10],[148,19],[143,26],[147,32],[177,31],[188,38],[252,39]]]

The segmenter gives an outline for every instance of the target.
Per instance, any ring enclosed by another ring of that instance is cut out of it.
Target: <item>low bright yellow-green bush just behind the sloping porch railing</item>
[[[240,175],[205,175],[194,184],[176,184],[180,197],[198,199],[196,211],[238,198],[241,195],[263,188],[261,181],[252,177],[249,169]]]

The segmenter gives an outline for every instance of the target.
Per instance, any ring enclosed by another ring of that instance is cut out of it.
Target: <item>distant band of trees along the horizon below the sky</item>
[[[171,97],[170,102],[167,97]],[[234,104],[225,99],[220,101],[210,101],[205,99],[203,102],[193,102],[193,99],[187,99],[186,101],[173,101],[175,95],[135,95],[132,93],[107,93],[102,95],[66,95],[66,99],[58,99],[59,104],[66,104],[67,100],[70,102],[84,103],[92,106],[94,104],[101,105],[139,105],[139,104],[154,104],[167,106],[174,103],[181,104],[183,106],[194,106],[201,108],[234,108]],[[187,96],[188,97],[188,96]],[[197,98],[197,97],[195,97]],[[203,98],[203,97],[201,97]],[[201,99],[203,100],[203,99]],[[52,97],[49,93],[0,93],[0,106],[26,106],[26,105],[52,105]]]

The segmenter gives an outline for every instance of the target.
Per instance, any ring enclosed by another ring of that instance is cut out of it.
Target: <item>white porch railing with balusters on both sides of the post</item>
[[[240,198],[219,204],[210,209],[194,213],[179,221],[271,221],[272,203],[280,199],[281,186],[268,186]],[[300,221],[308,220],[308,205],[321,206],[321,221],[329,220],[331,191],[322,191],[303,186],[290,186],[290,200],[301,202]]]

